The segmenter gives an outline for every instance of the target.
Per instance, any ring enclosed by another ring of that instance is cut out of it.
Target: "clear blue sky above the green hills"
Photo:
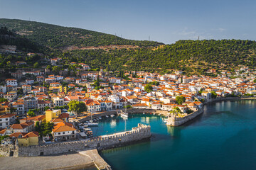
[[[52,23],[132,40],[256,40],[255,0],[0,0],[0,18]]]

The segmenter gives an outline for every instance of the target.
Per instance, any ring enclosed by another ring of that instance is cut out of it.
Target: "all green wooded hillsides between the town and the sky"
[[[69,67],[70,62],[83,62],[92,69],[103,67],[112,71],[165,73],[178,69],[186,74],[206,74],[209,69],[233,72],[241,66],[256,66],[256,42],[252,40],[179,40],[171,45],[163,45],[31,21],[0,19],[0,26],[11,30],[6,30],[4,34],[27,40],[21,43],[23,49],[35,49],[33,45],[36,45],[47,57],[62,58],[64,65],[59,69]],[[15,40],[11,38],[4,43],[17,44]],[[107,45],[111,47],[106,50]],[[75,48],[63,51],[66,47]],[[0,65],[5,67],[8,67],[6,63],[9,61],[19,61],[16,56],[2,55],[1,58]],[[20,58],[28,64],[37,62],[28,57]]]

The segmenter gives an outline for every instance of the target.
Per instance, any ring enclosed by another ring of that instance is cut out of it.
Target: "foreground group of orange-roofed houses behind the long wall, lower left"
[[[74,125],[68,123],[69,114],[61,113],[60,109],[48,109],[44,115],[36,115],[28,118],[21,118],[16,121],[16,114],[0,115],[0,136],[9,136],[16,140],[18,146],[28,147],[38,145],[39,132],[36,131],[36,125],[41,123],[53,123],[51,132],[55,142],[75,140],[76,132]],[[43,137],[43,141],[49,140],[49,136]],[[9,144],[10,140],[3,140],[1,143]]]

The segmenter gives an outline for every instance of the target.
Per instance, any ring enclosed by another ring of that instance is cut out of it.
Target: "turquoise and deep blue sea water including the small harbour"
[[[147,142],[101,152],[114,170],[256,169],[256,101],[211,103],[198,118],[167,127],[157,115],[102,120],[94,135],[151,125]]]

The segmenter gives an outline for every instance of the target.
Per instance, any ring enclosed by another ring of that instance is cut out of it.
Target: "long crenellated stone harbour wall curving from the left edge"
[[[136,128],[126,132],[114,133],[112,135],[103,135],[92,137],[87,140],[60,142],[49,145],[38,145],[29,147],[18,147],[17,145],[4,145],[0,147],[0,154],[9,157],[34,157],[50,154],[63,154],[67,152],[76,152],[87,149],[111,149],[121,147],[131,142],[137,142],[151,137],[151,127],[149,125],[139,124]]]

